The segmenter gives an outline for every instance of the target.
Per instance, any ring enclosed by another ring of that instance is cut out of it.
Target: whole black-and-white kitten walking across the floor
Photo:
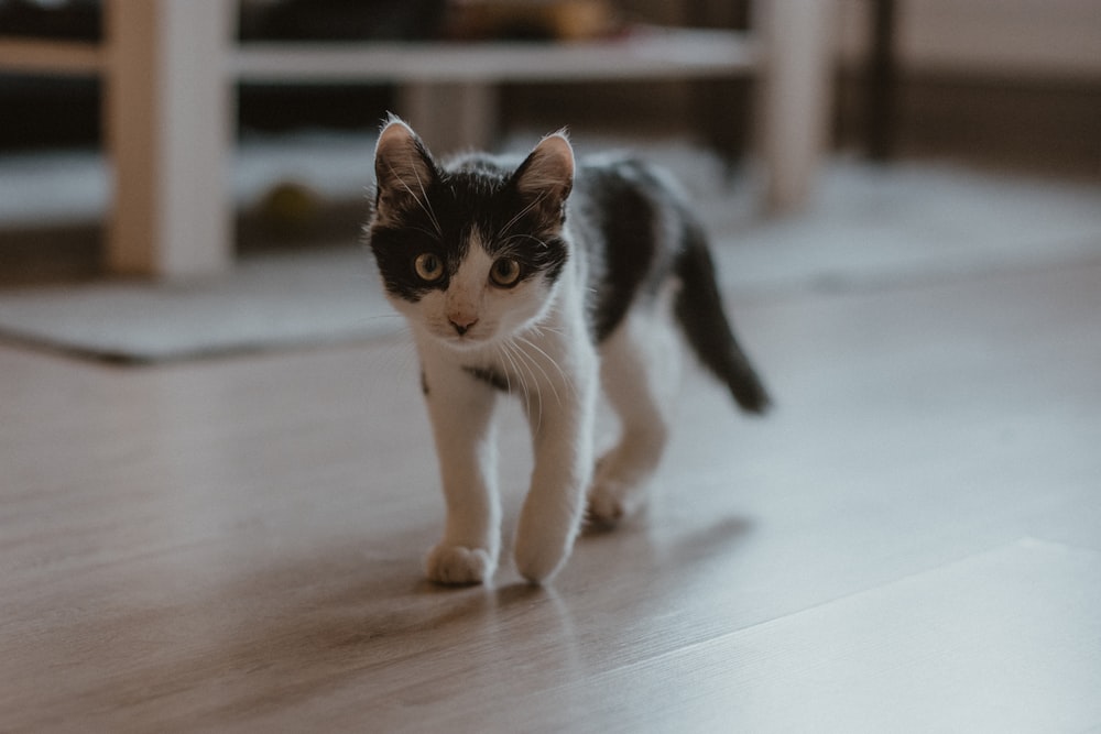
[[[575,162],[562,133],[523,161],[437,163],[396,118],[374,168],[368,242],[416,341],[447,504],[430,579],[477,583],[497,567],[499,394],[516,395],[531,424],[514,558],[532,582],[562,568],[586,512],[613,524],[641,503],[677,383],[673,321],[742,408],[767,406],[723,315],[704,232],[662,172]],[[601,388],[622,430],[596,461]]]

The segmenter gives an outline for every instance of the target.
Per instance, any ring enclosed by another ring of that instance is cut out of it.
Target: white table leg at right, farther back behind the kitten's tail
[[[760,147],[766,205],[774,212],[807,205],[827,143],[831,0],[763,0],[754,19],[762,34]]]

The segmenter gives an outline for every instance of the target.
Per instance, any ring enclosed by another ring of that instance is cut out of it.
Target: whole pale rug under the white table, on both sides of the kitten
[[[693,189],[735,300],[1101,259],[1101,186],[839,160],[822,172],[810,211],[770,220],[754,213],[746,186],[721,183],[708,154],[672,145],[653,156]],[[0,292],[0,336],[132,363],[350,342],[401,327],[355,242],[246,258],[204,282]]]

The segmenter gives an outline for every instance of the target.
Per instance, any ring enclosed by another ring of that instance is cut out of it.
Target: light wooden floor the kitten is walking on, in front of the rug
[[[648,514],[545,589],[421,580],[401,339],[0,346],[0,731],[1101,731],[1101,263],[737,308],[778,410],[689,373]]]

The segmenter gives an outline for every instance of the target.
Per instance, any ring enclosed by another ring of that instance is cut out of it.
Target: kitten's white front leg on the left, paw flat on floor
[[[500,545],[493,391],[449,365],[426,366],[424,383],[447,503],[444,537],[425,558],[425,573],[439,583],[480,583],[493,576]]]

